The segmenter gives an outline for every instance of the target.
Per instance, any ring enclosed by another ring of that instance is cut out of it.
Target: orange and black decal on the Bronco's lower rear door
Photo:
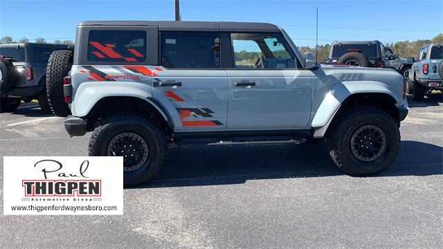
[[[186,102],[183,98],[172,91],[165,91],[165,96],[172,102]],[[178,105],[178,103],[176,103]],[[177,107],[181,125],[183,127],[217,126],[223,125],[219,120],[187,120],[188,118],[213,118],[214,113],[209,108],[183,108]]]

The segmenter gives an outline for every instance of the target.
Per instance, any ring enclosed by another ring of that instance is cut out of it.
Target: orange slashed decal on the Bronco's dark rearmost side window
[[[135,48],[124,48],[121,51],[116,51],[116,45],[114,44],[100,44],[100,42],[89,42],[96,51],[91,53],[98,59],[124,59],[127,62],[144,62],[145,55]]]

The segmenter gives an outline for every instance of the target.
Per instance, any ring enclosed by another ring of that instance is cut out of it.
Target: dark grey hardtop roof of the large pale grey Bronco
[[[278,32],[274,24],[230,21],[82,21],[78,26],[156,26],[159,30]]]

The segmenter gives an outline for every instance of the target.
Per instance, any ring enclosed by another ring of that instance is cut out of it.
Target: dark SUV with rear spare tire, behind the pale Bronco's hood
[[[333,42],[327,62],[353,66],[392,68],[405,79],[414,62],[413,57],[400,58],[379,41]]]

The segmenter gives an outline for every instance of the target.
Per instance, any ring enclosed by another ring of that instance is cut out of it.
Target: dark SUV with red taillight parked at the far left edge
[[[0,111],[12,112],[21,100],[38,100],[40,108],[51,113],[46,97],[46,65],[55,50],[73,49],[61,44],[0,45]]]

